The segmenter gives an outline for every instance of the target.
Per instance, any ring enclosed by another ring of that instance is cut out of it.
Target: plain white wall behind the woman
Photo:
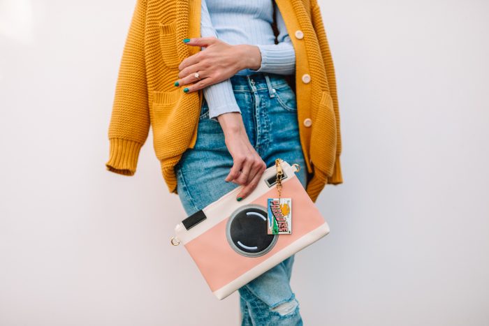
[[[0,325],[238,325],[168,242],[152,135],[105,170],[134,3],[0,0]],[[488,1],[320,3],[344,184],[296,255],[305,325],[489,325]]]

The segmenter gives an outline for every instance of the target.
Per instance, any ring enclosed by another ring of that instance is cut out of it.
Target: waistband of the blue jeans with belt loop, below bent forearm
[[[270,97],[275,96],[272,89],[287,84],[284,75],[276,73],[252,73],[251,75],[233,75],[231,78],[235,91],[258,91],[268,89]]]

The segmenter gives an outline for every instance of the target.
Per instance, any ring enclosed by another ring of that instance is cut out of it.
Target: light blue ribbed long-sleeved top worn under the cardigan
[[[257,45],[261,52],[261,66],[238,71],[236,75],[251,73],[295,73],[295,51],[277,3],[272,0],[201,0],[200,36],[215,36],[231,45]],[[273,8],[276,10],[278,44],[272,29]],[[205,50],[205,47],[201,47]],[[227,79],[203,89],[209,105],[209,118],[217,120],[219,114],[241,112]]]

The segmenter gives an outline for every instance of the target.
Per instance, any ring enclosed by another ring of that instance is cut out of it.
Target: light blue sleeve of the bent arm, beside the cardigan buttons
[[[261,66],[254,72],[277,73],[280,75],[293,75],[295,73],[295,50],[289,32],[286,29],[284,17],[275,1],[275,14],[277,15],[278,44],[256,45],[261,52]]]

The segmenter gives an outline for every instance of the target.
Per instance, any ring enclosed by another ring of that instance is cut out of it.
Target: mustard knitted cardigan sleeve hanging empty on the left
[[[105,167],[120,175],[134,175],[140,149],[149,133],[145,16],[146,0],[137,0],[126,34],[108,128],[110,151]]]

